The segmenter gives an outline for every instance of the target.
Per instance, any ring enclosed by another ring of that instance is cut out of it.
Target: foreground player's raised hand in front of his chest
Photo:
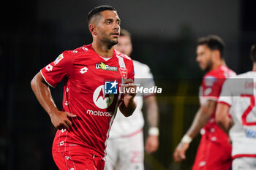
[[[134,98],[136,96],[136,88],[135,82],[132,79],[124,79],[123,82],[124,88],[124,97],[125,98]]]

